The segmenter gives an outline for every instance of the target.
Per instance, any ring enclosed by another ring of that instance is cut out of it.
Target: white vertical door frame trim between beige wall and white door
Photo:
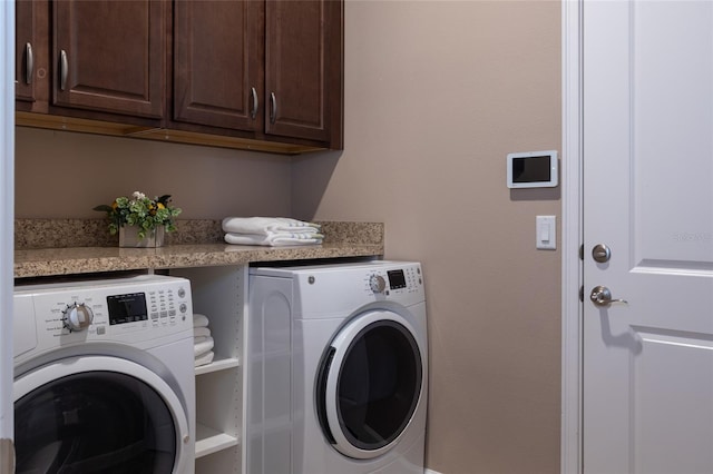
[[[584,0],[563,0],[563,267],[560,472],[582,465],[582,13]]]

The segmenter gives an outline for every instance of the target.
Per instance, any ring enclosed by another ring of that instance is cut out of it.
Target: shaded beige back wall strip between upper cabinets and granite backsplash
[[[290,158],[149,140],[16,129],[16,217],[101,218],[140,190],[169,194],[180,218],[290,215]]]

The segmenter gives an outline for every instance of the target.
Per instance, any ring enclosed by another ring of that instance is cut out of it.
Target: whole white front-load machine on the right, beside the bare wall
[[[252,268],[248,304],[248,473],[423,473],[420,264]]]

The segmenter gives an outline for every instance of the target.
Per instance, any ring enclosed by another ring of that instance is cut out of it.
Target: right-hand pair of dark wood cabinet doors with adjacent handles
[[[174,120],[341,148],[342,7],[177,0]]]

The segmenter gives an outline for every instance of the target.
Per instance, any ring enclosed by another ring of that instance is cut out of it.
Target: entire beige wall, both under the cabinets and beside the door
[[[559,3],[346,0],[345,150],[300,158],[17,130],[17,217],[98,217],[172,194],[184,218],[378,220],[423,263],[427,464],[559,472],[559,251],[535,249],[555,191],[510,192],[509,151],[560,144]]]

